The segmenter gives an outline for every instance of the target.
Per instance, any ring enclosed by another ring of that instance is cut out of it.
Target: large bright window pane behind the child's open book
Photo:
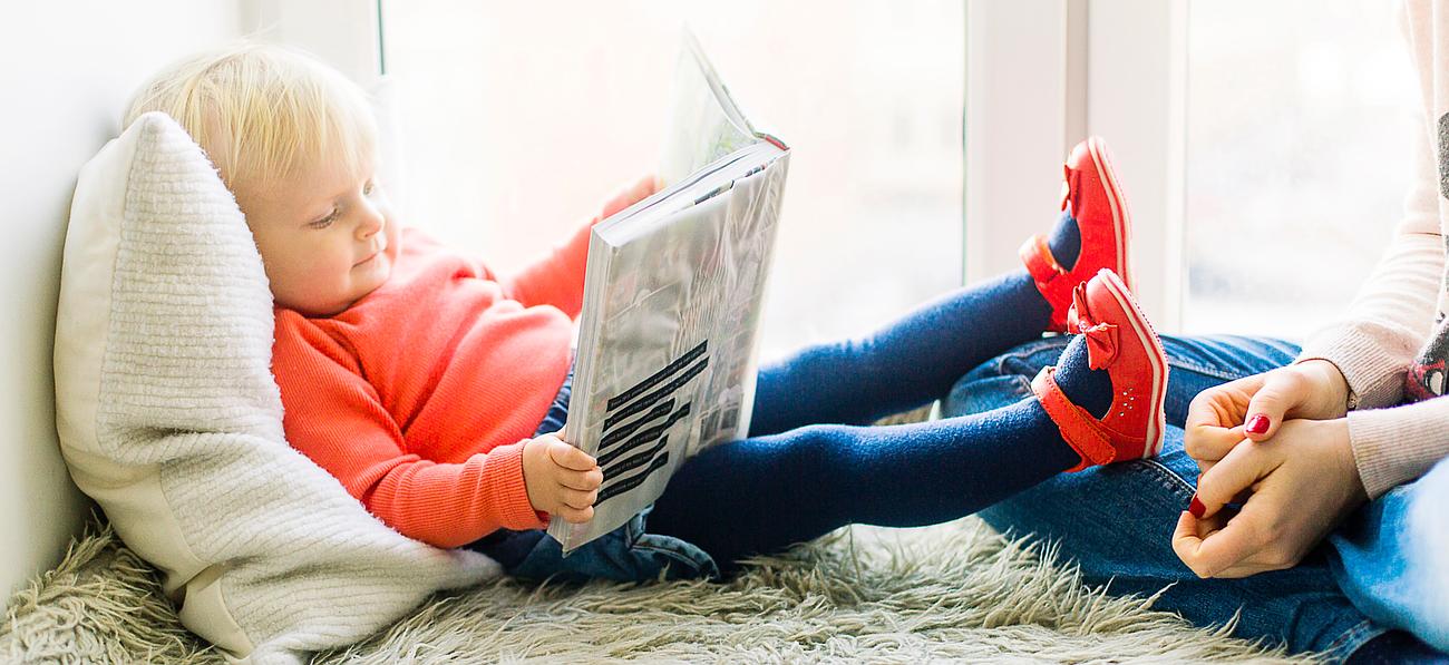
[[[409,225],[500,271],[658,161],[688,20],[794,149],[761,358],[865,333],[961,283],[961,3],[387,1]]]

